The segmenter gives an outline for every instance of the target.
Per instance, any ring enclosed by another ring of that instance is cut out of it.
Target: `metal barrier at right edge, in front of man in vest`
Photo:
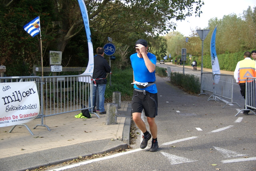
[[[237,116],[241,111],[250,110],[254,115],[256,113],[256,78],[248,77],[245,83],[245,109],[241,109],[235,116]]]

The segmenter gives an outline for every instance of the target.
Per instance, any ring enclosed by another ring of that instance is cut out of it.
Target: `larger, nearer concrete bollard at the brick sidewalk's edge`
[[[118,109],[118,104],[116,103],[107,104],[106,125],[116,124],[117,109]]]

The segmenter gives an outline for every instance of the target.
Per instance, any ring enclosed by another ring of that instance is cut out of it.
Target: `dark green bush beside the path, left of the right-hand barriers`
[[[172,72],[170,78],[172,84],[181,87],[184,91],[195,94],[200,93],[200,81],[195,75]]]

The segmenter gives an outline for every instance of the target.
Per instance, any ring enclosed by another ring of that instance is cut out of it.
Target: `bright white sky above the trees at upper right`
[[[244,10],[249,6],[256,6],[256,0],[202,0],[204,5],[201,8],[203,12],[199,17],[190,16],[182,22],[176,22],[176,31],[184,36],[191,34],[191,29],[196,30],[196,27],[204,29],[208,26],[208,20],[217,17],[223,18],[224,15],[237,14],[241,16]]]

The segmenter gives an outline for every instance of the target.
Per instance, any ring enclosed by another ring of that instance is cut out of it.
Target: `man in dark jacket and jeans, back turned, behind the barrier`
[[[111,72],[111,68],[104,59],[104,48],[97,48],[97,55],[94,56],[94,70],[92,74],[93,79],[93,88],[92,88],[92,104],[95,104],[95,97],[97,89],[99,91],[99,107],[100,107],[100,114],[106,114],[104,108],[104,101],[105,101],[105,89],[107,84],[107,73]],[[89,100],[90,106],[90,100]]]

